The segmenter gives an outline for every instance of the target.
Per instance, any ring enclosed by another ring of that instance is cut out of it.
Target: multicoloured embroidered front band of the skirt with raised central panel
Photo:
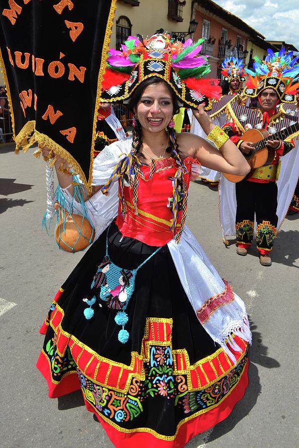
[[[238,383],[246,362],[247,355],[223,378],[192,392],[188,392],[185,375],[173,376],[169,346],[150,347],[150,360],[145,365],[147,379],[143,382],[134,378],[127,394],[94,383],[79,369],[78,376],[85,400],[104,418],[124,427],[127,422],[136,419],[144,411],[147,400],[155,396],[174,398],[175,407],[183,414],[208,410],[221,402]]]

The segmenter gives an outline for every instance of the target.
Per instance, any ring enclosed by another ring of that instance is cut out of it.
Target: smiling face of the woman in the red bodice
[[[165,129],[173,114],[173,102],[166,84],[161,82],[146,87],[134,112],[143,129],[149,132]]]

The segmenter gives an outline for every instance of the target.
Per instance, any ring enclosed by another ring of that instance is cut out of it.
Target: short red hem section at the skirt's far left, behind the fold
[[[57,384],[53,383],[51,379],[49,362],[43,352],[39,355],[36,367],[48,384],[48,395],[50,398],[58,398],[61,397],[61,395],[70,394],[71,392],[81,389],[77,372],[69,373],[68,375],[62,377]]]

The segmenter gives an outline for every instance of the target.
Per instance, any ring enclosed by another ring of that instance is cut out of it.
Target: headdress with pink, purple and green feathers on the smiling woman
[[[154,34],[149,39],[130,36],[121,50],[109,50],[102,84],[101,102],[127,100],[145,79],[157,76],[175,92],[186,107],[197,108],[211,98],[221,97],[218,81],[201,79],[210,72],[207,58],[199,55],[204,39],[185,43],[174,41],[168,34]]]

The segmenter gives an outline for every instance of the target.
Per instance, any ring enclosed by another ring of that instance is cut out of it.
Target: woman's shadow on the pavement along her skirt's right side
[[[272,369],[280,367],[280,363],[273,358],[267,356],[268,347],[262,343],[262,335],[256,331],[257,327],[249,319],[250,328],[252,332],[252,346],[249,349],[249,385],[246,389],[245,395],[239,403],[236,404],[232,413],[223,422],[215,426],[209,442],[219,439],[224,434],[229,433],[234,427],[246,417],[254,408],[258,396],[262,391],[259,371],[255,364]]]

